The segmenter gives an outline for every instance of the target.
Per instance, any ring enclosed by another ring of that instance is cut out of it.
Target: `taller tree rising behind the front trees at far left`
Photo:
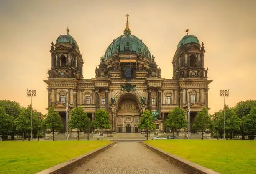
[[[10,101],[10,100],[0,100],[0,107],[4,107],[6,114],[9,116],[13,116],[13,119],[16,119],[20,112],[22,111],[22,107],[18,102]],[[12,139],[14,139],[14,135],[17,134],[16,126],[14,124],[13,130],[9,133],[12,136]]]

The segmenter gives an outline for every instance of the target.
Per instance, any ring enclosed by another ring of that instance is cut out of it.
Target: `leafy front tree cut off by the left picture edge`
[[[5,112],[4,107],[0,107],[0,135],[7,137],[13,131],[13,116],[9,116]]]

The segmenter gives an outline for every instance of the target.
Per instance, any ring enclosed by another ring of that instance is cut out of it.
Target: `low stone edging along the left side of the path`
[[[110,144],[106,144],[105,146],[94,149],[90,152],[82,154],[82,155],[75,157],[73,159],[70,159],[66,162],[57,164],[48,169],[42,170],[41,172],[38,172],[36,174],[68,174],[75,167],[78,167],[81,164],[84,164],[85,162],[87,162],[90,159],[92,159],[93,157],[95,157],[97,154],[100,154],[101,152],[105,151],[106,149],[108,149],[109,147],[113,146],[116,143],[117,142],[112,142]]]

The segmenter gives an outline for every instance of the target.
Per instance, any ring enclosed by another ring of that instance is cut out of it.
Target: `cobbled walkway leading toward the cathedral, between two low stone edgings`
[[[73,174],[183,174],[139,142],[117,142]]]

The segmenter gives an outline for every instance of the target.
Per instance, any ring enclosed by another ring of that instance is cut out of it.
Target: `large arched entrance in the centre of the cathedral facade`
[[[118,133],[138,133],[141,104],[131,93],[120,96],[116,107],[116,130]]]

